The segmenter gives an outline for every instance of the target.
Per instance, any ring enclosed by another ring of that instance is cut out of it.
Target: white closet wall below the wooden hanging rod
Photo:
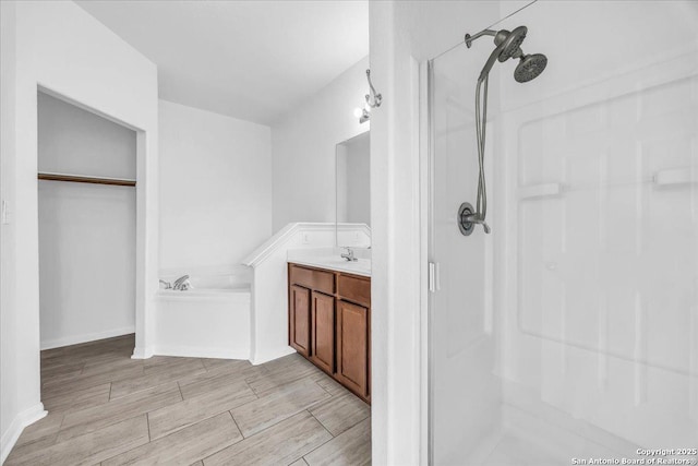
[[[41,349],[135,331],[135,189],[39,181]]]

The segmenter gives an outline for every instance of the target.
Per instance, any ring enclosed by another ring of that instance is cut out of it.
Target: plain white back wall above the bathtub
[[[272,235],[269,128],[167,100],[159,121],[161,273],[239,263]]]

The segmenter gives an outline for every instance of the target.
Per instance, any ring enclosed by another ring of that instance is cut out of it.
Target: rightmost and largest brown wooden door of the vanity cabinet
[[[369,309],[337,302],[337,379],[369,397]]]

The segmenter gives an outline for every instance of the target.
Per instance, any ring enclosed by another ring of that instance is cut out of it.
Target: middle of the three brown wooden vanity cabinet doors
[[[313,291],[311,360],[328,373],[335,372],[335,298]]]

